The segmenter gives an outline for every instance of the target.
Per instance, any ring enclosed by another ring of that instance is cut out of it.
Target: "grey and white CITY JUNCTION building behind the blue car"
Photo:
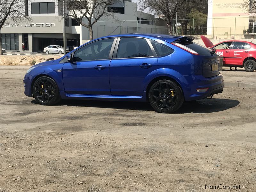
[[[137,4],[131,0],[116,1],[108,7],[108,11],[114,17],[103,15],[93,25],[94,38],[120,33],[168,32],[165,23],[155,21],[154,15],[137,11]],[[24,12],[30,17],[29,22],[16,24],[8,21],[1,28],[2,47],[5,50],[22,51],[23,42],[25,50],[29,52],[42,52],[44,47],[52,44],[63,45],[63,12],[60,2],[31,0],[28,3],[25,0]],[[80,46],[90,39],[88,29],[73,18],[65,19],[65,29],[67,46]]]

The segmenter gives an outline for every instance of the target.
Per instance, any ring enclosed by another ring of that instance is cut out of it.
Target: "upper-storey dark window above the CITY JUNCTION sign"
[[[32,14],[55,13],[55,3],[31,3]]]

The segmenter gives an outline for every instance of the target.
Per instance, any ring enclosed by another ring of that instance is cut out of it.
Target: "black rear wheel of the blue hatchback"
[[[172,113],[181,107],[184,95],[180,86],[166,79],[159,80],[150,87],[148,100],[157,112]]]

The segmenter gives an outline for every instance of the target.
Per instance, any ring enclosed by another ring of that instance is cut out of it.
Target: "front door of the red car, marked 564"
[[[216,49],[216,53],[220,55],[220,57],[223,58],[223,65],[229,64],[229,54],[230,54],[230,47],[231,47],[232,41],[229,42],[222,42],[220,44],[217,44],[214,48]]]

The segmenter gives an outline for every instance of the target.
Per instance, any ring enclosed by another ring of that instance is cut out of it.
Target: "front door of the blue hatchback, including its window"
[[[66,93],[111,95],[109,64],[112,58],[110,50],[113,41],[114,38],[94,41],[72,53],[73,62],[63,65],[63,83]]]

